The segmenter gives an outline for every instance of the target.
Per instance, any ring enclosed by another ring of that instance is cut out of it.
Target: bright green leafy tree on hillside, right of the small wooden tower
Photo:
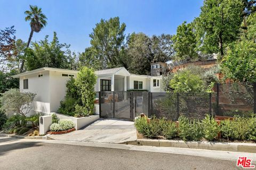
[[[187,60],[190,62],[191,60],[198,58],[193,24],[183,22],[179,25],[177,34],[173,36],[173,44],[175,56],[179,60]]]

